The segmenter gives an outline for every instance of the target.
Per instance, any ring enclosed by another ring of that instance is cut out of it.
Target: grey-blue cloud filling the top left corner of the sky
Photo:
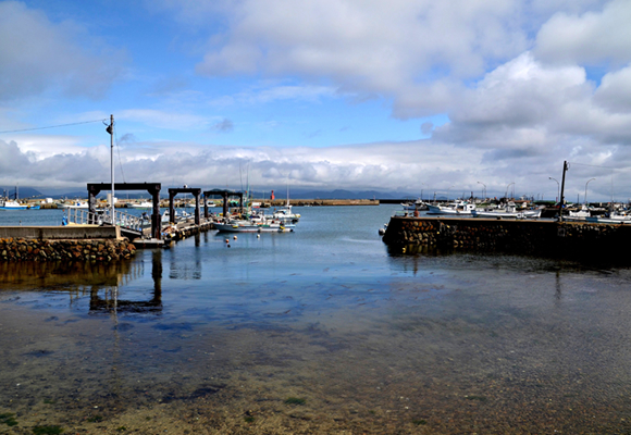
[[[121,74],[124,55],[84,48],[85,34],[79,25],[52,23],[22,2],[0,2],[0,100],[49,90],[102,96]]]

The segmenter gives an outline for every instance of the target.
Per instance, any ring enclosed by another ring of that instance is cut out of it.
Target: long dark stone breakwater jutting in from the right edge
[[[631,226],[541,220],[393,216],[383,241],[398,252],[502,251],[572,258],[617,257]],[[616,260],[626,261],[624,258]]]

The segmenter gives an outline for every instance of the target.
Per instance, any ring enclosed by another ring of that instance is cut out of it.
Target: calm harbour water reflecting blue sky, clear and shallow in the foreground
[[[0,263],[0,433],[631,431],[629,270],[391,256],[398,207],[296,209],[230,248]]]

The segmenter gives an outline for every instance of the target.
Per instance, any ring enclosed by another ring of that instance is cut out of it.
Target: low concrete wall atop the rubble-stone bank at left
[[[117,226],[0,226],[0,238],[23,238],[40,240],[59,239],[117,239]]]

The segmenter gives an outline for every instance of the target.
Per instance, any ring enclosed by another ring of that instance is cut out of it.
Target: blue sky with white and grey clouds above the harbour
[[[554,200],[567,161],[568,199],[627,201],[629,23],[629,0],[0,1],[0,186],[109,183],[113,115],[116,182]]]

